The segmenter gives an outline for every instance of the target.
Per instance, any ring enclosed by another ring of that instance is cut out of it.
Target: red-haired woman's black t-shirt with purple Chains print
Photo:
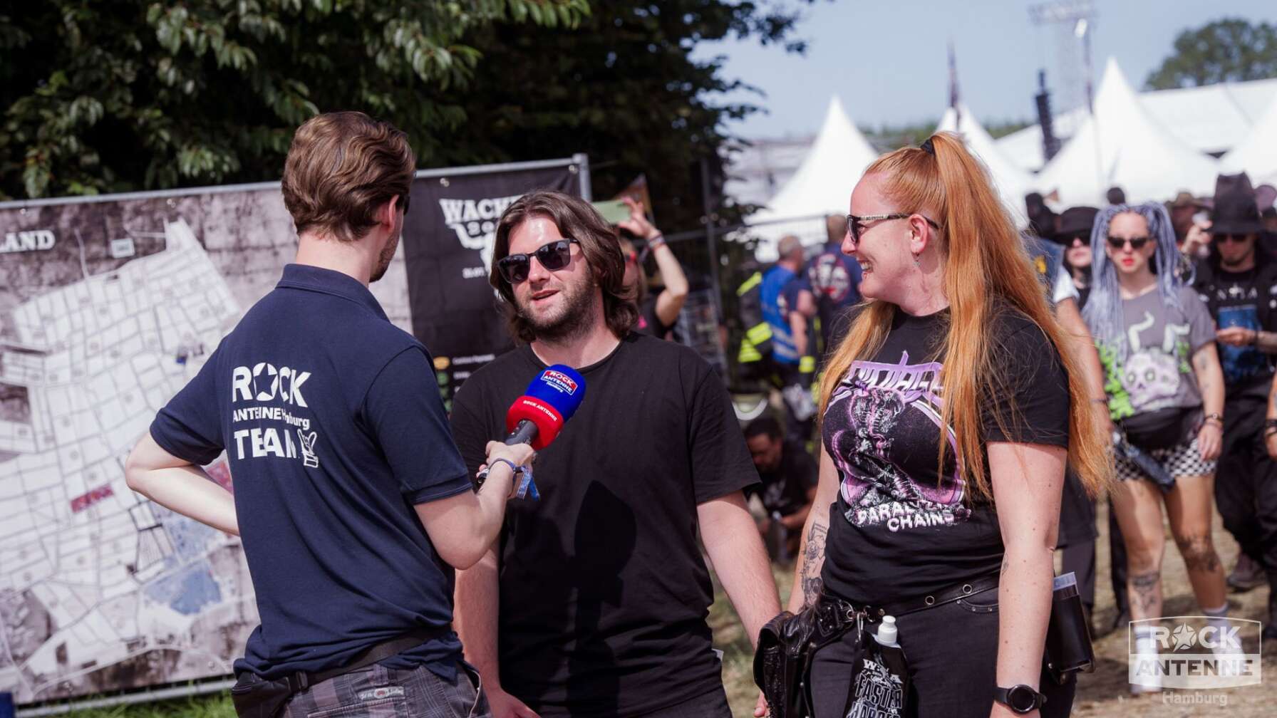
[[[840,485],[821,577],[849,600],[919,597],[1001,563],[997,516],[958,477],[951,429],[942,479],[936,470],[939,351],[948,323],[948,310],[927,317],[896,310],[882,349],[873,360],[852,364],[825,411],[825,448]],[[1008,310],[996,319],[991,349],[1010,391],[981,401],[986,441],[1066,446],[1068,379],[1046,335]]]

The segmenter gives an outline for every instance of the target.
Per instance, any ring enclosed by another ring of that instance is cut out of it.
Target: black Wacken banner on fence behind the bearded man
[[[419,176],[404,233],[412,333],[434,356],[444,405],[479,367],[513,348],[488,284],[497,220],[534,189],[581,194],[575,164]]]

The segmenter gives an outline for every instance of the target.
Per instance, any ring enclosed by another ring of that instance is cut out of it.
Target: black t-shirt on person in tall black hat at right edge
[[[1216,268],[1197,285],[1218,328],[1245,327],[1273,331],[1277,317],[1277,267],[1267,264],[1245,272]],[[1220,368],[1228,399],[1240,396],[1266,400],[1273,378],[1273,362],[1257,346],[1216,344]]]

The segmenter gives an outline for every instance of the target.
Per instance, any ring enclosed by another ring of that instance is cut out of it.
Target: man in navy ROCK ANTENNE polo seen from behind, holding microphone
[[[444,563],[492,544],[533,452],[492,442],[475,493],[425,348],[368,291],[414,165],[402,132],[360,112],[298,129],[282,183],[296,263],[129,456],[134,491],[243,537],[262,625],[235,664],[241,714],[487,714]],[[234,497],[199,468],[223,450]]]

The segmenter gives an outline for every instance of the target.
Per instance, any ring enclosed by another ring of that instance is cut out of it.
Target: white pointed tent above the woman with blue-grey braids
[[[1088,116],[1037,176],[1042,194],[1061,204],[1103,203],[1110,187],[1131,202],[1165,201],[1186,189],[1211,194],[1218,162],[1180,142],[1140,105],[1139,96],[1110,59]]]

